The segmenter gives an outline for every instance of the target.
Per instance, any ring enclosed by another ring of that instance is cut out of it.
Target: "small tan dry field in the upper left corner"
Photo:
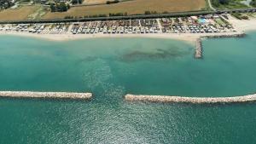
[[[17,9],[5,9],[0,12],[0,20],[27,20],[28,15],[34,14],[40,6],[21,6]]]

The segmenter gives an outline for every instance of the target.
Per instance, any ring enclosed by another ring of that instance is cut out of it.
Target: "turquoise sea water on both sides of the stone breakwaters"
[[[244,143],[256,105],[127,102],[131,94],[256,92],[256,32],[194,44],[100,38],[51,42],[0,37],[0,89],[92,92],[91,101],[0,99],[0,143]]]

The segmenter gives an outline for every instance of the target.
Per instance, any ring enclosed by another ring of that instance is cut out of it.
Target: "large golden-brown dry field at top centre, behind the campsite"
[[[192,10],[206,9],[205,0],[133,0],[123,3],[74,7],[67,12],[48,13],[44,19],[65,18],[66,16],[84,17],[85,15],[96,14],[144,14],[145,11],[164,12],[183,12]]]

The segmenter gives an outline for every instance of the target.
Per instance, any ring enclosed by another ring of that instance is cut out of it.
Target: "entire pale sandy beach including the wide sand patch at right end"
[[[63,41],[73,41],[89,38],[123,38],[123,37],[145,37],[145,38],[164,38],[164,39],[175,39],[189,43],[195,43],[198,38],[204,37],[221,37],[221,36],[231,36],[231,35],[241,35],[245,32],[256,31],[256,19],[252,18],[250,20],[237,20],[236,18],[229,16],[230,24],[234,26],[236,32],[218,32],[218,33],[144,33],[144,34],[37,34],[29,32],[0,32],[1,35],[10,35],[18,37],[34,37],[40,39],[46,39],[50,41],[63,42]]]

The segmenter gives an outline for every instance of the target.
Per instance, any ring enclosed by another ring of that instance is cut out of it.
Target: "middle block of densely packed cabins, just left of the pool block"
[[[108,20],[75,23],[73,34],[123,34],[123,33],[158,33],[160,26],[157,20]]]

